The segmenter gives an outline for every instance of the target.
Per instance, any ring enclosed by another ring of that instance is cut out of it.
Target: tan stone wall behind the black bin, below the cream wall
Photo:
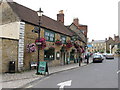
[[[2,39],[2,72],[8,72],[9,61],[15,61],[17,71],[18,40]]]

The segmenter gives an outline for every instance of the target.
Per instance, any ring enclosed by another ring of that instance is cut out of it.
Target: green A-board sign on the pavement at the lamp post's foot
[[[48,66],[47,66],[47,62],[45,61],[42,61],[42,62],[39,62],[39,69],[38,69],[38,72],[39,73],[46,73],[48,72]]]

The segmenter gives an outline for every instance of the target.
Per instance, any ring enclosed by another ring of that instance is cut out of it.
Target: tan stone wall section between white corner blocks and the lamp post
[[[35,43],[37,34],[32,32],[34,25],[25,24],[25,34],[24,34],[24,68],[29,69],[31,61],[37,61],[37,51],[27,52],[27,44]]]

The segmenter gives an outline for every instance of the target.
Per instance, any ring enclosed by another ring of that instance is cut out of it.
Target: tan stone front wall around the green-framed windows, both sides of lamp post
[[[36,46],[36,52],[27,52],[27,44],[35,43],[36,38],[38,37],[37,33],[32,32],[34,29],[34,25],[25,24],[25,37],[24,37],[24,68],[29,69],[31,61],[37,61],[38,58],[38,49]],[[44,29],[41,29],[40,37],[44,38]],[[60,40],[60,34],[55,33],[55,40]],[[67,37],[66,40],[70,40],[70,37]],[[54,60],[46,60],[48,62],[48,66],[56,66],[61,64],[61,58],[59,60],[56,59],[56,52],[60,52],[62,46],[55,45],[55,42],[46,41],[46,47],[44,49],[49,49],[49,47],[55,47],[55,59]],[[40,60],[44,61],[44,49],[40,50]],[[72,48],[71,48],[72,49]],[[70,53],[71,49],[68,50]],[[61,54],[61,52],[60,52]]]

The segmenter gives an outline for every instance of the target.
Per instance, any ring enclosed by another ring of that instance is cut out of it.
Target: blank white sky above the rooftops
[[[105,40],[118,35],[118,2],[120,0],[13,0],[32,10],[43,10],[43,14],[57,19],[64,11],[64,24],[70,25],[74,18],[79,24],[88,26],[89,41]]]

